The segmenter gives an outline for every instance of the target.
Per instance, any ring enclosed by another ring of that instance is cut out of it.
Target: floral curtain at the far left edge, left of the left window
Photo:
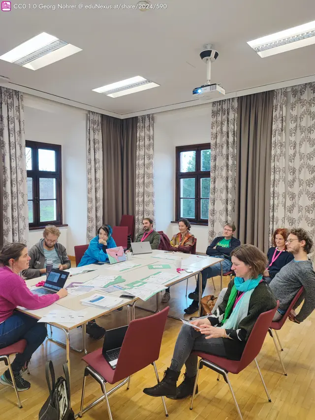
[[[0,87],[0,244],[27,243],[29,211],[23,95]]]

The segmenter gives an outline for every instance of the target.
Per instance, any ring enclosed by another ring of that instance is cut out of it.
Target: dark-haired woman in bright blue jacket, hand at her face
[[[94,262],[106,262],[108,261],[108,255],[106,254],[107,248],[115,248],[116,243],[112,237],[113,229],[109,225],[102,225],[97,230],[97,236],[90,242],[89,248],[84,253],[78,267],[82,265],[93,264]]]

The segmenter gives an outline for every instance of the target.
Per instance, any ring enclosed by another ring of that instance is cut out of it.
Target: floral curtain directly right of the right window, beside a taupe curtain
[[[212,102],[209,243],[234,221],[237,98]]]

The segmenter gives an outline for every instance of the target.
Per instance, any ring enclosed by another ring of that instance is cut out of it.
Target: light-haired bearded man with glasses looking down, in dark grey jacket
[[[58,242],[59,236],[58,227],[48,225],[44,228],[43,238],[29,250],[30,265],[27,270],[22,271],[23,278],[34,279],[46,274],[48,259],[53,261],[53,268],[67,270],[71,267],[65,247]]]

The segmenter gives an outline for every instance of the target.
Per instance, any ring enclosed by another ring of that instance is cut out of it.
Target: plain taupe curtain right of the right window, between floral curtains
[[[269,247],[274,91],[238,98],[235,222],[242,244]]]

